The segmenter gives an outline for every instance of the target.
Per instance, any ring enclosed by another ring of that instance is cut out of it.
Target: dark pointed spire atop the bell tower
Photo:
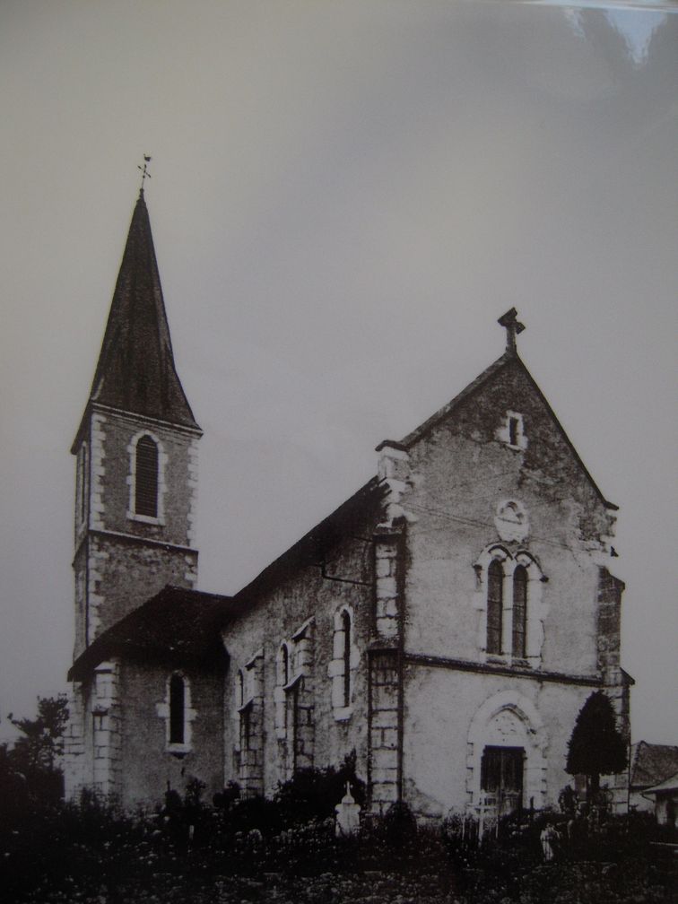
[[[174,368],[143,184],[132,214],[89,399],[198,427]]]

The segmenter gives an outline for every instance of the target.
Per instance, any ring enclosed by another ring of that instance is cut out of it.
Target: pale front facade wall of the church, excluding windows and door
[[[509,416],[520,425],[514,443],[506,429]],[[525,771],[530,796],[554,803],[571,782],[564,762],[579,708],[604,677],[622,691],[619,582],[600,579],[601,566],[610,561],[614,515],[519,363],[510,363],[458,405],[409,452],[416,479],[400,499],[413,515],[405,586],[405,799],[423,815],[476,804],[469,789],[477,794],[478,777],[470,780],[467,770],[469,762],[477,766],[482,751],[469,759],[468,731],[494,694],[513,689],[532,715],[517,704],[500,707],[485,735],[476,726],[476,743],[512,746],[497,741],[504,726],[532,764]],[[500,654],[486,649],[487,568],[493,557],[504,563]],[[528,566],[528,656],[514,662],[512,570],[518,563]],[[429,669],[425,657],[438,658],[440,666]],[[445,660],[535,674],[513,678],[472,667],[446,669]],[[541,671],[564,673],[572,681],[542,683]],[[620,700],[617,710],[623,705]],[[539,749],[532,731],[542,732]]]

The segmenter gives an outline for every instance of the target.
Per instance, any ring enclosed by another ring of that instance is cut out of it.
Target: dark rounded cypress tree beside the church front
[[[628,762],[626,740],[617,729],[615,711],[602,691],[592,693],[579,710],[568,742],[570,776],[585,775],[589,796],[598,794],[600,776],[621,772]]]

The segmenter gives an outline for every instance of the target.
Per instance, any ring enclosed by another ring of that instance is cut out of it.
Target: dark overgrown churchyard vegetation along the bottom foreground
[[[668,867],[653,863],[650,848],[664,835],[646,814],[582,824],[585,834],[570,839],[565,816],[513,816],[478,845],[473,819],[417,825],[400,804],[365,819],[358,835],[336,838],[331,817],[286,824],[278,803],[241,799],[235,790],[212,807],[200,783],[189,783],[184,794],[169,791],[155,815],[121,815],[92,796],[80,805],[27,806],[14,823],[0,821],[3,899],[226,904],[267,900],[279,888],[280,900],[300,904],[399,900],[401,892],[403,901],[427,904],[670,900]],[[544,864],[539,834],[547,819],[563,843],[556,862]]]

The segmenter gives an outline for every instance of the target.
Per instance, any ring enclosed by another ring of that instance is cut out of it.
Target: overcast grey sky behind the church
[[[372,476],[514,305],[620,506],[634,739],[678,743],[678,15],[641,6],[4,0],[0,731],[70,664],[69,448],[146,153],[201,589]]]

